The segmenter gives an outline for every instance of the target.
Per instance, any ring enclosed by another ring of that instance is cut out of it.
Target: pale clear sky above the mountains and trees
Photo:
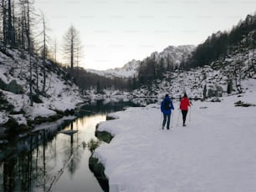
[[[170,45],[203,43],[255,13],[256,0],[36,0],[35,8],[44,13],[58,50],[74,25],[84,46],[79,66],[105,70]]]

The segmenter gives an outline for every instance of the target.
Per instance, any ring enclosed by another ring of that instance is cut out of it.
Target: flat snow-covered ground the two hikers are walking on
[[[171,130],[160,129],[159,104],[111,114],[118,119],[99,130],[115,137],[94,154],[105,164],[110,191],[255,191],[256,107],[234,103],[256,104],[256,92],[240,96],[192,102],[186,127],[174,101]]]

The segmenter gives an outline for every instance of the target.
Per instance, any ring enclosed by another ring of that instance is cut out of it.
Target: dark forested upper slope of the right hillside
[[[202,67],[216,61],[225,60],[235,54],[248,52],[256,48],[256,16],[248,15],[231,31],[213,33],[207,40],[198,45],[192,56],[182,62],[182,68]],[[251,55],[254,61],[254,54]],[[240,61],[242,62],[242,61]]]

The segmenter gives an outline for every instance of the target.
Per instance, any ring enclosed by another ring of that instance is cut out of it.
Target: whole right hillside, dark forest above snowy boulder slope
[[[256,78],[255,27],[256,16],[248,15],[229,32],[209,36],[182,59],[180,68],[170,68],[157,78],[154,74],[157,70],[161,74],[161,60],[153,64],[149,60],[145,65],[155,64],[155,68],[147,67],[144,75],[151,73],[151,78],[146,77],[148,81],[134,95],[162,97],[170,93],[178,98],[186,91],[194,99],[206,99],[246,91],[253,86],[246,82]]]

